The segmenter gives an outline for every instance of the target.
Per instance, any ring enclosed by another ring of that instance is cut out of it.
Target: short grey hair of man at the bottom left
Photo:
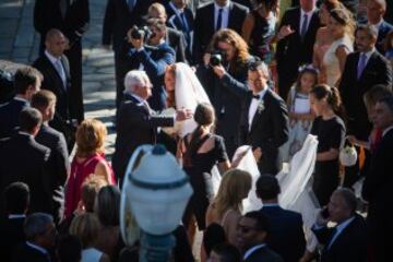
[[[33,240],[45,233],[47,225],[53,223],[53,217],[46,213],[33,213],[26,217],[23,229],[27,240]]]

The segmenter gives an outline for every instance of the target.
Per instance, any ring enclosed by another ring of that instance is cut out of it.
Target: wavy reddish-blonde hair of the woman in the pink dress
[[[76,156],[86,157],[104,152],[104,142],[108,131],[97,119],[86,119],[76,129]]]

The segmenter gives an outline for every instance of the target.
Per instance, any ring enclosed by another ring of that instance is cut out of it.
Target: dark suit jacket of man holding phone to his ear
[[[333,228],[312,228],[318,241],[324,245],[321,262],[360,262],[367,261],[367,237],[365,218],[356,214],[355,219],[344,228],[330,246],[333,238]]]

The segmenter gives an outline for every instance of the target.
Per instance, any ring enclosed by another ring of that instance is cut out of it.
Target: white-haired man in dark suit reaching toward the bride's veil
[[[121,181],[134,150],[142,144],[154,144],[157,127],[172,127],[174,117],[153,111],[146,99],[152,95],[152,84],[144,71],[130,71],[124,80],[124,100],[117,114],[116,144],[112,157],[115,175]],[[189,110],[179,110],[176,120],[190,118]],[[120,183],[121,184],[121,183]]]

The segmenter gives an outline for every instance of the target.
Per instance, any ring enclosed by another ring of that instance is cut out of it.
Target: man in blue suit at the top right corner
[[[378,51],[384,55],[384,39],[389,32],[393,31],[393,25],[383,20],[386,12],[385,0],[368,0],[367,1],[367,20],[378,31],[378,39],[376,47]]]

